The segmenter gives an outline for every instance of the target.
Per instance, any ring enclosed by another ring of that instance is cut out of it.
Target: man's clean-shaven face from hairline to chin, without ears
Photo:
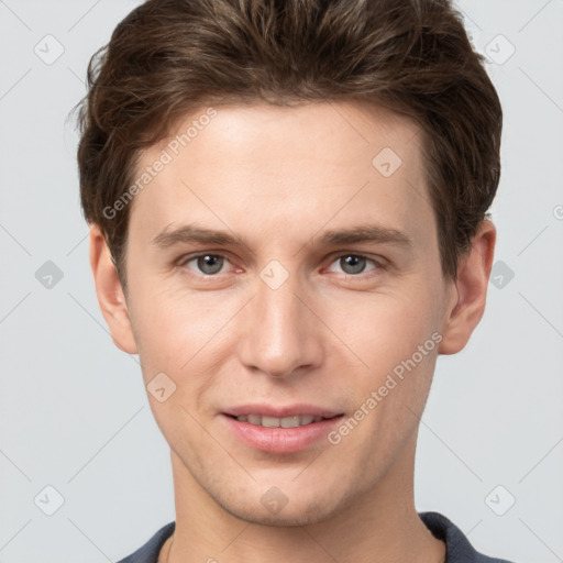
[[[166,161],[131,209],[129,351],[175,479],[313,523],[399,471],[429,391],[453,285],[421,140],[344,102],[216,111],[139,163]]]

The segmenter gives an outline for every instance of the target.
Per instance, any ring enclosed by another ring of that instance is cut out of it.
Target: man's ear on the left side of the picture
[[[90,229],[90,266],[98,302],[113,343],[128,354],[136,354],[137,347],[118,271],[106,239],[97,224]]]

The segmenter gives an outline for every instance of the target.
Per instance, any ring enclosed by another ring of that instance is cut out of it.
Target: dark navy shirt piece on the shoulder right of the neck
[[[434,538],[446,545],[445,563],[511,563],[504,559],[488,558],[475,551],[470,540],[451,520],[439,512],[420,512],[420,519]]]

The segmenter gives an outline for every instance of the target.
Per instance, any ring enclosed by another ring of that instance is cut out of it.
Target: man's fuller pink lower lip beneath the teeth
[[[325,439],[334,426],[342,420],[343,415],[297,428],[264,428],[236,420],[228,415],[221,415],[221,417],[241,442],[255,450],[268,453],[295,453]]]

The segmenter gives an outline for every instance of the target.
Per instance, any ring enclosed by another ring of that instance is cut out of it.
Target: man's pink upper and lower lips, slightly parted
[[[233,410],[236,410],[236,413],[232,412]],[[327,417],[327,420],[319,420],[297,428],[265,428],[233,418],[249,413],[261,413],[277,418],[297,415],[329,416],[332,418]],[[307,450],[322,440],[325,441],[329,432],[341,422],[344,415],[335,415],[324,409],[297,405],[290,408],[238,407],[236,409],[230,409],[229,413],[222,412],[220,417],[227,430],[243,444],[261,452],[287,454]]]

